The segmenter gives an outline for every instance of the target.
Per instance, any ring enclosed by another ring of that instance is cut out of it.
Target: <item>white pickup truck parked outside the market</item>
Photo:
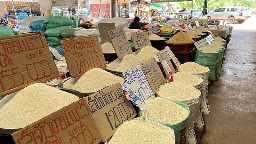
[[[238,23],[244,23],[250,16],[245,11],[244,7],[226,6],[220,7],[207,15],[208,20],[228,20],[229,24],[233,24],[236,21]]]

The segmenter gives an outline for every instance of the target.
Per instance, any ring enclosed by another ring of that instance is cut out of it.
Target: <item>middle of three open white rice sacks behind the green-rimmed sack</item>
[[[203,98],[203,79],[199,76],[193,76],[189,73],[185,72],[177,72],[172,74],[173,82],[182,83],[188,86],[193,86],[201,92],[200,95],[200,108],[196,114],[196,122],[195,122],[195,130],[202,131],[204,128],[204,119],[203,119],[203,106],[202,106],[202,98]]]

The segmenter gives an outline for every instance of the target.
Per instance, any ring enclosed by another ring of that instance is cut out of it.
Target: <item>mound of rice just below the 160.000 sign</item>
[[[141,48],[138,52],[134,52],[133,55],[138,57],[140,60],[147,61],[151,58],[155,58],[156,61],[160,61],[156,53],[159,52],[157,49],[155,49],[152,46],[145,46]]]

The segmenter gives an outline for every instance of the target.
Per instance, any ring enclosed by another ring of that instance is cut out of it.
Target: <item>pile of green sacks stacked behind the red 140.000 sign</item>
[[[47,37],[46,41],[50,46],[57,46],[60,44],[59,39],[62,36],[59,34],[61,31],[71,28],[74,23],[68,17],[63,16],[50,16],[43,23],[43,27],[46,28],[44,31]]]

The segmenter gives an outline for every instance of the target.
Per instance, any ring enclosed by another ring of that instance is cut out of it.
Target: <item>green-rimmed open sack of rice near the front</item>
[[[154,98],[148,100],[143,108],[147,108],[147,117],[149,120],[168,126],[174,130],[176,144],[188,144],[188,122],[189,108],[186,104],[166,100],[163,98]],[[142,116],[140,110],[138,116]]]

